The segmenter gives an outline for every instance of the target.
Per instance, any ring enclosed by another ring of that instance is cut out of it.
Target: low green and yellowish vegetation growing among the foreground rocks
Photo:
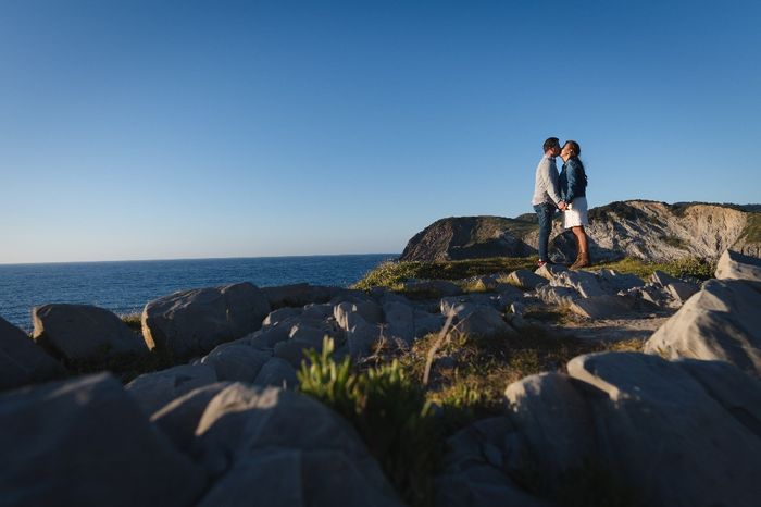
[[[643,345],[638,339],[600,343],[553,336],[542,327],[490,338],[448,336],[424,384],[428,354],[440,337],[428,335],[392,358],[376,355],[373,364],[352,364],[348,357],[336,361],[333,342],[326,338],[322,353],[307,353],[298,373],[300,391],[354,426],[401,498],[413,506],[433,505],[446,436],[477,419],[503,413],[510,383],[535,373],[563,372],[581,354],[641,350]],[[566,505],[629,505],[604,471],[588,468],[571,471],[557,487],[531,469],[514,479],[526,491]],[[615,502],[602,502],[595,493],[599,491]]]

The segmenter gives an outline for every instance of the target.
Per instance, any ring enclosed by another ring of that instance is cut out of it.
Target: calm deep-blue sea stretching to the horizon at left
[[[30,309],[78,302],[133,313],[186,288],[251,282],[260,287],[308,282],[347,286],[396,253],[248,259],[76,262],[0,265],[0,317],[32,327]]]

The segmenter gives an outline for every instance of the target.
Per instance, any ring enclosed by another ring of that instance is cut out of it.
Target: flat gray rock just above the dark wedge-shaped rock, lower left
[[[124,388],[146,416],[192,389],[216,382],[214,368],[205,364],[179,364],[166,370],[144,373]]]

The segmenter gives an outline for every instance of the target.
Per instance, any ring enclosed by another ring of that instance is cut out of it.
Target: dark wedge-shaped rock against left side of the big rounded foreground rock
[[[172,441],[177,450],[189,454],[196,426],[209,401],[229,385],[229,382],[215,382],[195,388],[157,410],[150,420]]]

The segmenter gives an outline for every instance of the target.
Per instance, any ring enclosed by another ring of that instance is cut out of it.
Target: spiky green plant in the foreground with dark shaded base
[[[409,505],[433,503],[433,477],[442,438],[425,393],[397,360],[354,372],[346,357],[336,362],[334,343],[308,350],[298,372],[300,391],[346,418]]]

